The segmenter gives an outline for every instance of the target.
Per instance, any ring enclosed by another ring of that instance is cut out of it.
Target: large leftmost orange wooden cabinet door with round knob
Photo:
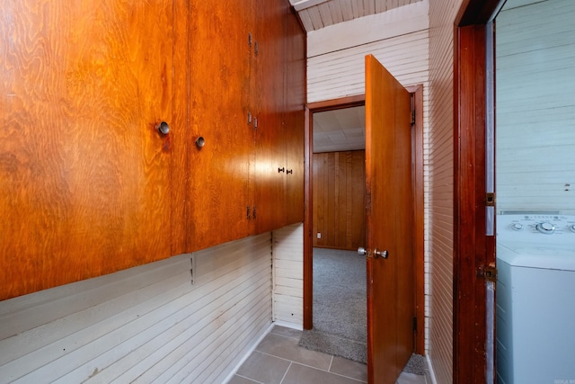
[[[179,5],[3,2],[0,299],[181,248]]]

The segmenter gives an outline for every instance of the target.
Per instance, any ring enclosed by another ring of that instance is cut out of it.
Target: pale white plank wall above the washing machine
[[[524,3],[496,20],[497,209],[575,214],[575,2]]]

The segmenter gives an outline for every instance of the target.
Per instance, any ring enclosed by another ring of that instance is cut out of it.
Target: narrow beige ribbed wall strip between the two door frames
[[[453,25],[461,3],[429,2],[428,353],[438,383],[453,380]]]

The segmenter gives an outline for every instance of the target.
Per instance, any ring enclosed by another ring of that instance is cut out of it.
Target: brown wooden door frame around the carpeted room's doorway
[[[417,330],[413,351],[425,353],[425,276],[423,216],[423,85],[405,87],[413,96],[415,123],[412,135],[413,169],[413,242],[415,260],[415,307]],[[304,329],[313,327],[313,178],[314,178],[314,113],[365,105],[365,94],[348,96],[305,105],[305,218],[304,218]],[[366,292],[367,294],[367,292]]]

